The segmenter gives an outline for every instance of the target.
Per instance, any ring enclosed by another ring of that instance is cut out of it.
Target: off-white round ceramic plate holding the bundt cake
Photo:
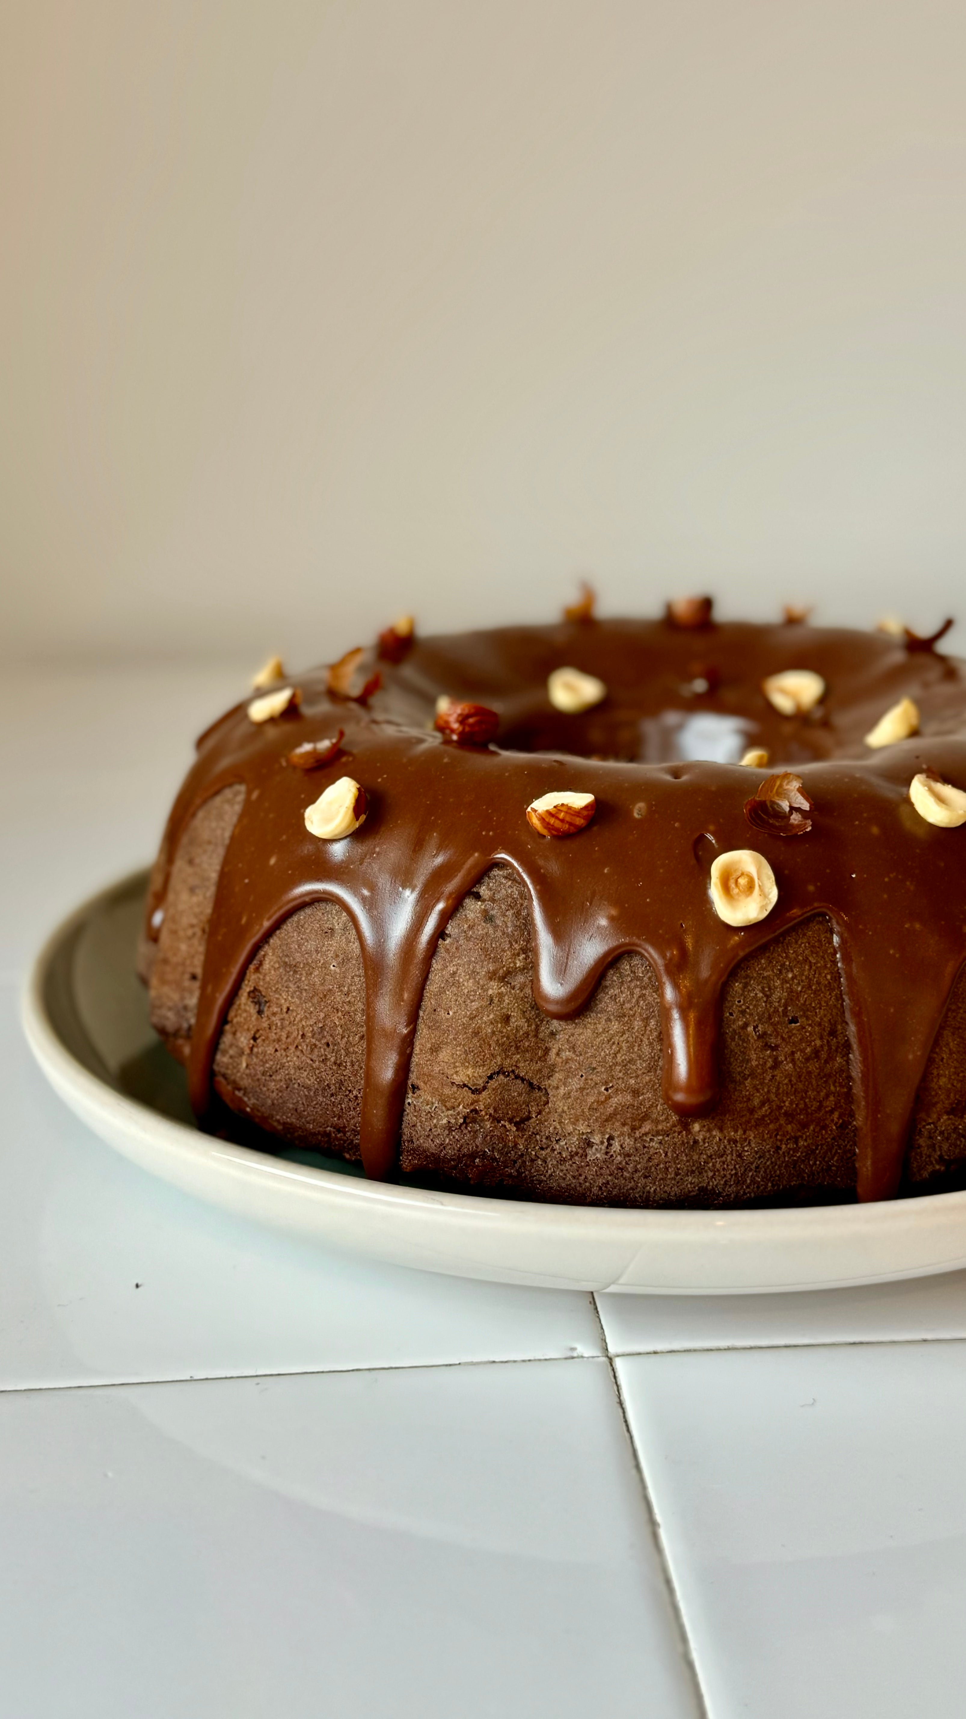
[[[883,1282],[966,1265],[966,1193],[746,1212],[624,1212],[368,1183],[335,1159],[199,1133],[134,976],[146,873],[84,902],[41,949],[24,1028],[50,1083],[155,1176],[277,1229],[399,1265],[629,1294]]]

